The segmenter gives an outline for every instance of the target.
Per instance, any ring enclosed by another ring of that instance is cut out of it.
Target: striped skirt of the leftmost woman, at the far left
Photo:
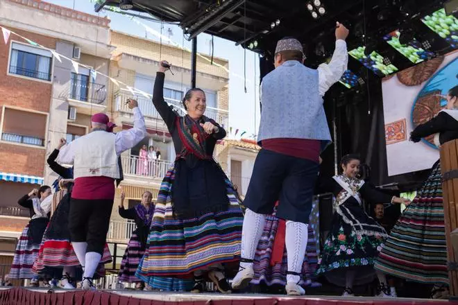
[[[28,225],[26,225],[19,241],[17,241],[9,275],[10,279],[32,279],[35,276],[32,266],[39,250],[40,243],[31,243],[30,237],[28,237]]]

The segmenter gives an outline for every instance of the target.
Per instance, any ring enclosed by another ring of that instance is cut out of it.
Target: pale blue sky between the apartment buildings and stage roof
[[[94,3],[91,3],[90,0],[44,1],[96,15],[94,12]],[[159,41],[158,37],[151,35],[151,33],[146,33],[143,26],[124,15],[109,11],[99,13],[101,17],[105,15],[110,17],[111,28],[113,30]],[[139,19],[139,21],[142,21],[142,23],[158,32],[161,30],[161,24],[159,22],[146,21],[144,19]],[[183,42],[183,30],[175,25],[164,24],[162,35],[168,36],[169,28],[171,28],[171,32],[173,33],[170,37],[171,40],[181,45]],[[200,53],[210,53],[210,39],[210,35],[198,35],[197,51]],[[185,40],[185,47],[190,49],[191,42]],[[260,107],[258,103],[260,68],[258,55],[252,51],[246,51],[246,93],[244,91],[244,49],[241,46],[235,46],[235,42],[214,37],[214,56],[229,60],[229,126],[232,127],[233,132],[238,128],[240,130],[239,134],[242,131],[246,131],[247,134],[244,137],[251,135],[257,131],[260,121]]]

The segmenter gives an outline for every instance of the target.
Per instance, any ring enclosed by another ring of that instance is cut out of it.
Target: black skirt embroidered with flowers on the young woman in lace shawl
[[[348,216],[364,225],[365,229],[355,229]],[[341,204],[332,218],[316,274],[324,275],[334,285],[345,287],[346,272],[354,270],[355,286],[371,283],[375,278],[373,265],[386,238],[384,228],[368,216],[359,204],[348,201]]]

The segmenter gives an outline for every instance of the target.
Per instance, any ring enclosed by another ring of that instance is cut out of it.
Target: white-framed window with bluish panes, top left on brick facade
[[[12,42],[9,71],[11,74],[51,80],[51,52]]]

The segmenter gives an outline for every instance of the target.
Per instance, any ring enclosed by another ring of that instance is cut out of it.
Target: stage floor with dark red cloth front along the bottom
[[[217,293],[161,293],[130,290],[49,290],[46,288],[0,288],[0,305],[441,305],[447,300],[385,299],[379,297],[330,297]]]

